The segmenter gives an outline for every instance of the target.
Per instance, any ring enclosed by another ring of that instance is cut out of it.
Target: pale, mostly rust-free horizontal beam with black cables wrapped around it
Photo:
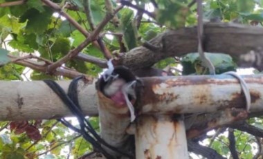
[[[67,92],[71,81],[58,84]],[[52,119],[70,116],[62,100],[42,81],[0,81],[0,120]],[[98,115],[98,99],[93,84],[80,82],[79,102],[86,115]]]

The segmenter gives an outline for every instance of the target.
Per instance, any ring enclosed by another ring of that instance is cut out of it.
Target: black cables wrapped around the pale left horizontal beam
[[[68,108],[73,113],[73,115],[76,116],[76,118],[80,123],[80,129],[74,127],[71,123],[67,122],[64,118],[60,119],[59,121],[62,122],[62,124],[64,124],[66,127],[73,129],[73,131],[81,133],[83,135],[83,138],[88,142],[90,142],[94,148],[98,149],[98,151],[101,151],[101,153],[106,158],[113,158],[113,157],[109,153],[107,153],[105,149],[103,149],[101,144],[105,145],[106,147],[108,147],[113,151],[120,153],[123,156],[127,156],[128,158],[134,158],[132,155],[124,153],[116,149],[116,147],[112,147],[110,144],[105,142],[105,140],[102,140],[102,138],[100,138],[100,135],[98,135],[98,133],[93,129],[89,121],[82,114],[82,110],[78,102],[77,88],[78,88],[78,81],[83,77],[84,76],[78,76],[72,80],[71,84],[69,85],[68,95],[66,95],[64,90],[53,80],[51,79],[44,80],[44,82],[61,98],[64,104],[68,106]]]

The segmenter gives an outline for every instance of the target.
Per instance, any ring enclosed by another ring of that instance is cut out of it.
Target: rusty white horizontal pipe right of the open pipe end
[[[243,76],[251,94],[251,112],[263,111],[262,75]],[[230,75],[142,78],[138,114],[209,113],[246,108],[238,79]]]

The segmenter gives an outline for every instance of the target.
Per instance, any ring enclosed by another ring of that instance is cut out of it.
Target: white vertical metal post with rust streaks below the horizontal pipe
[[[136,158],[189,158],[184,122],[171,115],[140,116],[135,138]]]

